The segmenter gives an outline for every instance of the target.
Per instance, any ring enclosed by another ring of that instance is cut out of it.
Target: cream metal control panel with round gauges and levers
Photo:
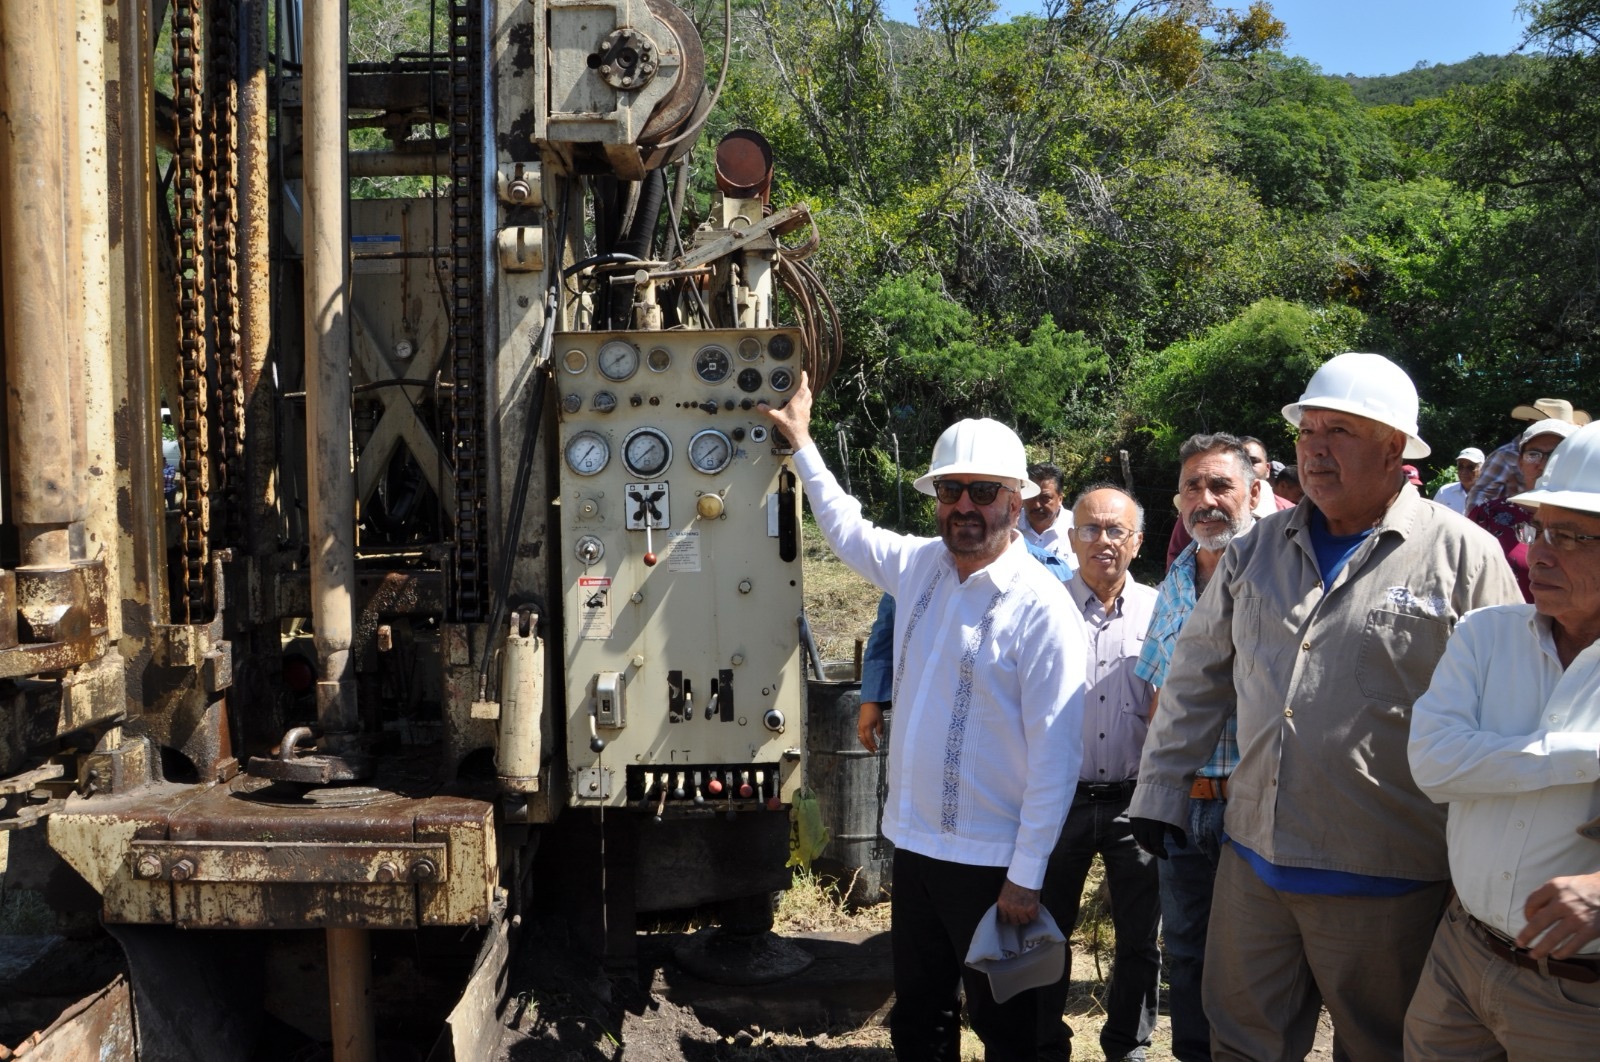
[[[798,353],[792,328],[557,334],[573,804],[800,787],[800,488],[757,409]]]

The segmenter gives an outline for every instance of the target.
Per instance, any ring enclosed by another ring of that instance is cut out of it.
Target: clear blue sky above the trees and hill
[[[1221,0],[1243,10],[1250,0]],[[1037,11],[1037,0],[1000,0],[1002,18]],[[917,21],[917,0],[883,0],[893,19]],[[1504,54],[1522,42],[1517,0],[1272,0],[1290,27],[1285,51],[1323,74],[1400,74],[1418,62]]]

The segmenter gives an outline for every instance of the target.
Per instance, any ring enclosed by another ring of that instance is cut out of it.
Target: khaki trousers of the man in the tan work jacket
[[[1302,896],[1269,888],[1222,852],[1200,995],[1211,1059],[1299,1062],[1333,1016],[1333,1057],[1402,1059],[1416,990],[1450,883],[1405,896]]]

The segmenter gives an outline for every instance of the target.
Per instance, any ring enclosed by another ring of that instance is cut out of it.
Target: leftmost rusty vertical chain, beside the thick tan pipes
[[[178,440],[182,453],[184,622],[200,622],[206,598],[211,531],[211,430],[206,342],[206,246],[203,232],[205,99],[202,83],[202,0],[173,5],[173,96],[178,142],[173,158],[178,230]]]

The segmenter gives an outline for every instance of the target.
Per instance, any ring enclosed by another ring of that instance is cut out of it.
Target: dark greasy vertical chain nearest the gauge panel
[[[478,178],[478,64],[483,26],[478,0],[450,0],[450,342],[451,454],[456,472],[456,616],[482,619],[488,536],[483,387],[483,203]]]

